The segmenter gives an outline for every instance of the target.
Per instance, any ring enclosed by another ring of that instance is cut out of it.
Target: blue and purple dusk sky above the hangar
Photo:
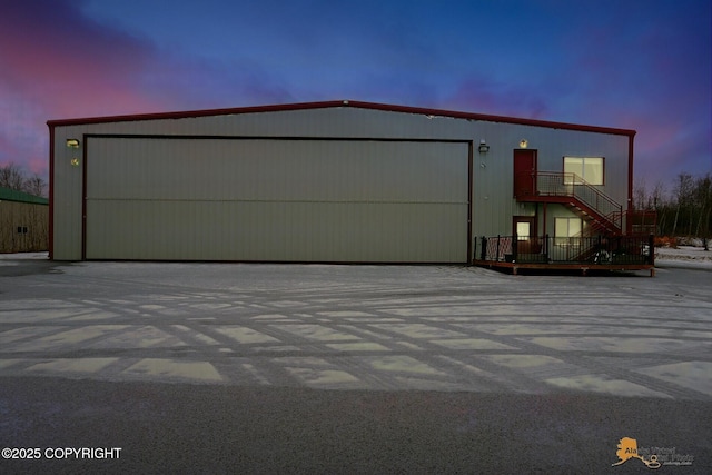
[[[49,119],[360,100],[637,130],[635,177],[712,172],[710,0],[21,0],[0,165]]]

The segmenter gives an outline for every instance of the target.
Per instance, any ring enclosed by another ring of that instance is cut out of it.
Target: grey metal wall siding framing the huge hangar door
[[[512,198],[512,157],[513,149],[518,147],[518,141],[522,138],[528,140],[530,148],[538,150],[541,170],[561,170],[561,160],[564,155],[604,156],[606,174],[603,190],[624,207],[627,199],[630,137],[620,133],[358,108],[250,112],[199,118],[58,126],[55,129],[56,169],[52,177],[55,180],[55,259],[81,258],[81,167],[77,169],[69,166],[70,154],[65,147],[65,139],[81,138],[83,133],[472,140],[475,144],[472,177],[473,237],[512,231],[511,217],[517,214],[517,204]],[[485,155],[478,154],[476,149],[481,139],[485,139],[491,146],[490,151]],[[482,162],[486,165],[486,168],[481,167]],[[332,165],[334,162],[325,162],[324,168],[315,170],[315,182],[322,180],[324,176],[333,174],[329,171]],[[168,185],[170,186],[170,184]],[[245,186],[258,187],[258,184],[245,184]],[[268,225],[263,224],[261,226]],[[345,239],[349,238],[350,236]],[[273,248],[275,247],[274,239],[273,232],[267,240],[267,244]],[[260,246],[267,244],[260,244]],[[220,246],[225,246],[225,244],[220,244]]]

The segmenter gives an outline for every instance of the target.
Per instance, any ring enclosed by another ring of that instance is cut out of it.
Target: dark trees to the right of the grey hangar
[[[693,177],[682,172],[670,192],[662,182],[634,189],[635,208],[657,214],[657,236],[712,237],[712,175]]]

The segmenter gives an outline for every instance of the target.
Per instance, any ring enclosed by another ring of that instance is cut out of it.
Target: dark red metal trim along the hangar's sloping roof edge
[[[83,118],[83,119],[60,119],[60,120],[49,120],[47,125],[50,128],[52,128],[58,126],[80,126],[80,125],[88,125],[88,123],[131,122],[131,121],[140,121],[140,120],[160,120],[160,119],[189,119],[189,118],[209,117],[209,116],[229,116],[229,115],[237,115],[237,113],[278,112],[278,111],[307,110],[307,109],[328,109],[328,108],[336,108],[336,107],[354,107],[357,109],[383,110],[383,111],[389,111],[389,112],[418,113],[424,116],[441,116],[441,117],[451,117],[455,119],[481,120],[485,122],[516,123],[522,126],[547,127],[551,129],[578,130],[584,132],[612,133],[612,135],[621,135],[621,136],[629,136],[629,137],[635,136],[635,130],[629,130],[629,129],[584,126],[584,125],[566,123],[566,122],[553,122],[548,120],[522,119],[516,117],[492,116],[486,113],[459,112],[459,111],[453,111],[453,110],[428,109],[428,108],[411,107],[411,106],[393,106],[387,103],[362,102],[362,101],[354,101],[354,100],[298,102],[298,103],[284,103],[284,105],[274,105],[274,106],[238,107],[238,108],[230,108],[230,109],[192,110],[192,111],[182,111],[182,112],[138,113],[138,115],[128,115],[128,116],[92,117],[92,118]]]

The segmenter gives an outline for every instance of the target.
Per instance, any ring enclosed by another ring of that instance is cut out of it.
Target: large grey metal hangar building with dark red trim
[[[479,236],[595,227],[532,199],[542,170],[632,207],[633,130],[356,101],[48,125],[61,260],[469,263]]]

